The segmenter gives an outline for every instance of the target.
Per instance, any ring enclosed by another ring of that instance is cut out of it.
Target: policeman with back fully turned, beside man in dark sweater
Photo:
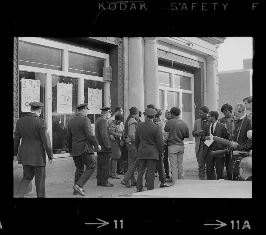
[[[135,132],[135,145],[138,151],[139,172],[137,192],[144,191],[142,177],[147,168],[147,190],[154,189],[154,176],[157,163],[160,164],[164,155],[162,129],[153,122],[157,111],[153,108],[145,110],[147,120],[137,125]],[[168,187],[162,186],[160,187]],[[165,184],[165,183],[164,183]]]

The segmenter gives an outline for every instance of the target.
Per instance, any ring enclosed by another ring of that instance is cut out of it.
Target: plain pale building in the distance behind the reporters
[[[218,72],[219,77],[219,113],[225,103],[233,106],[244,103],[243,98],[252,95],[252,58],[243,60],[244,69]],[[247,115],[250,111],[247,110]]]

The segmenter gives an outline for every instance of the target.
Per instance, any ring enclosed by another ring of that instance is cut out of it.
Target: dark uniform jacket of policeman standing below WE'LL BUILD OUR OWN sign
[[[112,152],[106,148],[111,146],[111,135],[108,121],[103,115],[100,115],[95,122],[95,136],[101,145],[101,150],[95,150],[96,152]]]

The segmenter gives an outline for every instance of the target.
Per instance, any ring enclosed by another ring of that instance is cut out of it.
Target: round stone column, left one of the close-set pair
[[[128,38],[128,86],[129,86],[129,108],[135,106],[144,112],[144,81],[142,63],[142,38]],[[142,115],[144,116],[144,115]],[[141,117],[141,120],[144,117]]]

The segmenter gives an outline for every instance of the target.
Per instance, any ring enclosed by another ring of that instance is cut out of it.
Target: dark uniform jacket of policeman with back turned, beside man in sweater
[[[161,127],[152,120],[141,122],[135,132],[138,159],[157,159],[164,155],[164,141]]]

